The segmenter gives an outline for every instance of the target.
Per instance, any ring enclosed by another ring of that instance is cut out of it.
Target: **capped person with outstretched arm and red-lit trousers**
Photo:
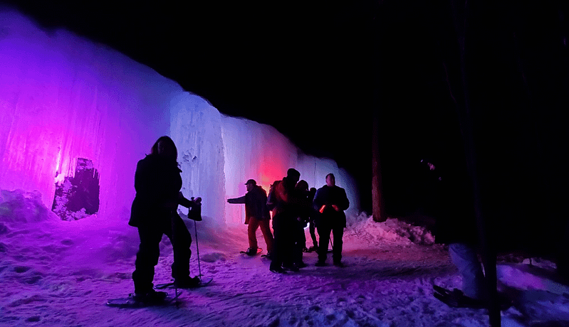
[[[263,238],[267,245],[267,256],[271,257],[273,252],[273,233],[269,226],[271,215],[267,208],[267,193],[261,186],[257,185],[254,179],[250,179],[245,183],[247,193],[239,198],[227,199],[228,203],[244,203],[245,204],[245,224],[247,227],[247,235],[249,236],[249,249],[246,254],[257,254],[257,236],[256,232],[261,227]]]

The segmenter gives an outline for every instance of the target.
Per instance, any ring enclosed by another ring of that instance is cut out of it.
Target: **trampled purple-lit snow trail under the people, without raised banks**
[[[409,241],[361,247],[347,237],[347,267],[314,267],[316,254],[310,253],[304,254],[308,267],[281,275],[269,272],[267,259],[236,253],[246,246],[241,226],[219,231],[234,240],[226,244],[209,240],[212,231],[201,231],[202,273],[214,282],[185,291],[179,309],[109,308],[106,299],[132,292],[137,235],[132,227],[101,225],[98,219],[2,224],[1,324],[431,326],[461,316],[429,294],[434,278],[456,279],[440,247]],[[161,247],[157,283],[169,281],[172,264],[166,237]],[[195,255],[191,266],[197,274]],[[484,313],[476,314],[484,321]]]

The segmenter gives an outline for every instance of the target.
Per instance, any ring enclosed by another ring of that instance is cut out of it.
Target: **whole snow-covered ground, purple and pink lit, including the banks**
[[[459,287],[461,279],[422,227],[350,217],[347,267],[315,267],[308,253],[308,267],[284,275],[269,272],[266,259],[239,254],[245,225],[207,218],[187,225],[194,238],[197,227],[202,274],[212,284],[184,290],[179,307],[110,308],[107,299],[133,290],[138,240],[126,218],[62,221],[33,193],[1,191],[0,326],[489,326],[484,309],[434,299],[434,283]],[[263,247],[260,232],[258,239]],[[165,238],[155,282],[169,281],[171,263]],[[569,326],[568,286],[555,282],[550,262],[533,264],[498,266],[501,289],[515,300],[503,326]]]

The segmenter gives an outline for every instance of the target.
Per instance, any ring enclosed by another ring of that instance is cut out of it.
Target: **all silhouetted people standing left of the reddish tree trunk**
[[[162,136],[150,149],[150,154],[138,161],[135,172],[135,199],[132,201],[129,225],[137,227],[140,245],[136,254],[135,271],[132,280],[135,284],[135,300],[143,302],[162,301],[167,295],[155,291],[155,266],[160,256],[162,235],[167,235],[174,250],[172,277],[180,288],[197,286],[199,277],[189,276],[189,258],[192,243],[187,226],[177,213],[178,205],[189,208],[188,218],[202,220],[201,198],[187,199],[182,189],[182,171],[177,164],[177,148],[168,136]],[[241,198],[229,199],[229,203],[244,203],[249,225],[249,254],[256,254],[258,245],[256,230],[261,227],[271,258],[271,272],[283,273],[286,270],[298,271],[306,265],[302,261],[306,249],[304,227],[311,225],[313,245],[318,242],[314,226],[320,235],[317,266],[325,265],[330,232],[333,233],[333,260],[343,266],[342,237],[345,227],[345,214],[349,206],[343,188],[335,186],[333,174],[326,176],[326,185],[315,191],[308,189],[306,181],[299,181],[301,173],[288,169],[287,176],[271,185],[269,194],[250,179],[246,182],[247,193]],[[273,230],[271,234],[269,210],[273,211]]]

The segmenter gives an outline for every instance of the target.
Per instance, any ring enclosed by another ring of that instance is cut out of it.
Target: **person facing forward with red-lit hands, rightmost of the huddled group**
[[[326,175],[326,185],[318,188],[318,191],[316,191],[313,205],[314,209],[320,213],[316,222],[318,235],[320,235],[320,247],[318,247],[318,262],[316,266],[322,267],[326,265],[330,232],[333,232],[332,257],[334,265],[344,267],[342,263],[342,237],[346,227],[344,210],[348,209],[350,201],[348,196],[346,196],[345,190],[336,186],[333,173]]]

